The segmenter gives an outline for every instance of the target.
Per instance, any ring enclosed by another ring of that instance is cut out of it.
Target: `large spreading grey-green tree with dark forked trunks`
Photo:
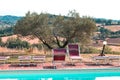
[[[16,23],[14,33],[36,37],[52,49],[64,48],[70,42],[88,43],[96,29],[92,18],[80,17],[76,11],[70,11],[67,17],[28,12]]]

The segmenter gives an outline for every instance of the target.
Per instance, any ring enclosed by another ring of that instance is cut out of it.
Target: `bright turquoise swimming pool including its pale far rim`
[[[120,68],[1,70],[0,80],[120,80]]]

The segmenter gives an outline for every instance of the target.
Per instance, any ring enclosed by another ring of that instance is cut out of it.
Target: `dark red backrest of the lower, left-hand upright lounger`
[[[53,61],[65,61],[66,49],[53,49]]]

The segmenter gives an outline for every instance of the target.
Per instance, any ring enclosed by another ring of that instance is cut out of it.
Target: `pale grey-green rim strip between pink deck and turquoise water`
[[[70,72],[76,72],[76,73],[80,73],[80,72],[92,72],[92,71],[96,71],[96,72],[102,72],[102,71],[113,71],[113,72],[120,72],[120,68],[92,68],[92,69],[42,69],[42,70],[0,70],[0,74],[1,73],[29,73],[29,72],[33,72],[33,73],[70,73]]]

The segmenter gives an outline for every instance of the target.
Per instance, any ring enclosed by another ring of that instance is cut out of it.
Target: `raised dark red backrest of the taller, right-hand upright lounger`
[[[69,56],[79,56],[80,48],[78,44],[68,44],[68,54]]]

